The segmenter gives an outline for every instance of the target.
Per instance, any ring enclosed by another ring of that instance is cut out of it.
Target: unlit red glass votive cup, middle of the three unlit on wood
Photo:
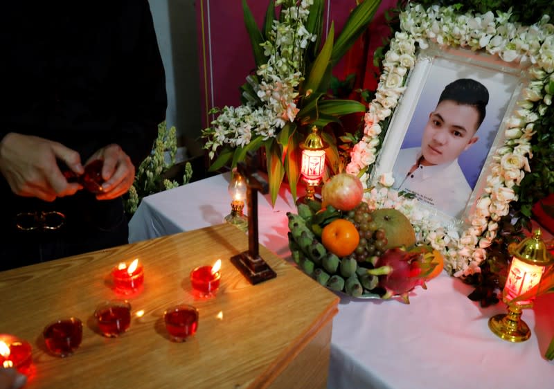
[[[94,317],[102,335],[115,338],[131,325],[131,304],[127,300],[102,302],[96,307]]]

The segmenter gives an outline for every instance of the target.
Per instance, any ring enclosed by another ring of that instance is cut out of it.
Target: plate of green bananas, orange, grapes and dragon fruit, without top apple
[[[364,201],[348,211],[322,209],[318,201],[299,203],[297,210],[287,212],[292,259],[339,296],[399,296],[409,303],[409,291],[425,287],[432,258],[421,249],[406,251],[414,246],[415,233],[402,212],[371,211]]]

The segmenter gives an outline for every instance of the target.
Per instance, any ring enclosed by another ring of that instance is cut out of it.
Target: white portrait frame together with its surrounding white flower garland
[[[497,235],[499,221],[517,201],[532,156],[533,125],[551,104],[554,80],[554,25],[543,17],[532,26],[510,21],[509,12],[467,12],[453,6],[424,8],[410,2],[400,13],[400,30],[391,39],[382,74],[365,115],[364,136],[352,148],[346,172],[366,187],[370,208],[396,208],[409,217],[419,244],[443,253],[446,271],[465,277],[481,271],[485,249]],[[435,58],[510,74],[509,94],[498,135],[479,171],[462,217],[444,215],[418,199],[391,188],[389,171],[404,140],[415,102]]]

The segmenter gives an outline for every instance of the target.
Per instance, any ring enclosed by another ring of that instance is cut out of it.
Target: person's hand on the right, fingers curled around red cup
[[[96,194],[98,200],[110,200],[127,193],[134,181],[134,165],[119,145],[111,144],[94,153],[87,163],[101,159],[102,192]]]

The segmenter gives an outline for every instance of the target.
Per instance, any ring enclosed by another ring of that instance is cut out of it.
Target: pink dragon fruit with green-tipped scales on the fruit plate
[[[410,303],[408,293],[420,285],[427,289],[425,277],[433,271],[432,255],[408,253],[401,248],[389,248],[375,263],[375,269],[368,273],[379,277],[379,287],[386,290],[382,298],[400,296],[406,304]]]

